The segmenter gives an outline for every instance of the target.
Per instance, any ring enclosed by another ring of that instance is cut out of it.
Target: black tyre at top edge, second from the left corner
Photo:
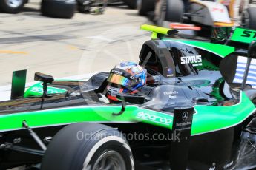
[[[42,0],[43,16],[55,18],[72,18],[76,10],[75,0]]]

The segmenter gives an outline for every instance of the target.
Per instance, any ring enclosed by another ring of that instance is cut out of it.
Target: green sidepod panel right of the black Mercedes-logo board
[[[192,135],[226,129],[237,125],[255,112],[255,105],[244,92],[241,93],[240,103],[234,106],[194,106]]]

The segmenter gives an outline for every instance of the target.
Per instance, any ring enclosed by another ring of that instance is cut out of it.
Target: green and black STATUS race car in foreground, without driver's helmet
[[[102,100],[108,72],[88,81],[36,73],[25,92],[26,71],[13,72],[12,99],[0,102],[0,169],[255,168],[255,31],[236,28],[223,45],[142,29],[152,32],[140,52],[147,84],[120,103]]]

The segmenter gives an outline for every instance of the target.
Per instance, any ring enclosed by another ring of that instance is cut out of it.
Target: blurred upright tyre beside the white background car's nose
[[[170,22],[183,22],[184,4],[181,0],[167,0],[166,4],[163,3],[165,11],[165,21]]]

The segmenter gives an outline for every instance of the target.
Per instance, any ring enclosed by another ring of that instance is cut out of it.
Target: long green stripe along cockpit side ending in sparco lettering
[[[140,109],[137,106],[126,106],[122,115],[114,116],[113,112],[119,112],[121,106],[77,106],[60,109],[47,109],[35,112],[21,112],[11,115],[1,115],[0,132],[11,129],[21,129],[22,121],[26,120],[31,127],[36,126],[54,126],[58,124],[68,124],[75,122],[120,122],[133,123],[141,120],[145,123],[157,124],[168,128],[168,123],[161,123],[160,119],[147,120],[137,118],[138,112],[146,112],[149,115],[161,116],[161,118],[172,118],[160,112],[154,112],[148,109]],[[10,123],[11,122],[11,123]]]

